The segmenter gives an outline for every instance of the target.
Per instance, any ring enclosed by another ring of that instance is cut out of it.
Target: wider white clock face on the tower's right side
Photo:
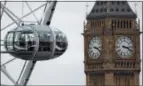
[[[116,53],[121,58],[130,58],[134,48],[132,40],[126,36],[120,36],[116,41]]]

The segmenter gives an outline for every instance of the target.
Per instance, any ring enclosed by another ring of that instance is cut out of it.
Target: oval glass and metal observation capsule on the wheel
[[[24,25],[9,31],[4,46],[7,52],[23,60],[49,60],[62,55],[67,38],[58,29],[44,25]]]

